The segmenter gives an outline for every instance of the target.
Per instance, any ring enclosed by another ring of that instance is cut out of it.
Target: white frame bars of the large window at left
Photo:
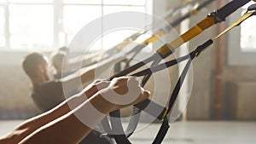
[[[0,6],[3,6],[4,8],[4,19],[5,19],[5,25],[4,25],[4,37],[5,37],[5,46],[0,47],[0,51],[21,51],[21,52],[27,52],[27,51],[31,51],[31,49],[11,49],[10,48],[10,30],[9,30],[9,5],[10,4],[17,4],[17,5],[30,5],[30,4],[36,4],[36,5],[52,5],[53,6],[53,45],[51,46],[53,49],[51,50],[55,50],[59,47],[61,47],[62,43],[60,43],[60,37],[59,34],[60,33],[64,33],[65,37],[67,36],[66,32],[64,31],[63,28],[63,8],[65,5],[94,5],[94,6],[101,6],[102,8],[102,15],[104,14],[103,9],[104,6],[132,6],[132,7],[144,7],[146,13],[152,14],[153,12],[153,8],[148,8],[148,6],[153,7],[152,2],[148,2],[151,0],[145,0],[145,4],[144,5],[128,5],[128,4],[104,4],[103,0],[101,1],[102,3],[98,3],[98,4],[85,4],[85,3],[63,3],[62,0],[53,0],[52,3],[10,3],[9,0],[7,0],[4,3],[0,3]],[[60,22],[62,21],[62,22]],[[67,39],[65,40],[65,44],[67,45]],[[42,51],[44,52],[49,52],[49,49],[42,49]]]

